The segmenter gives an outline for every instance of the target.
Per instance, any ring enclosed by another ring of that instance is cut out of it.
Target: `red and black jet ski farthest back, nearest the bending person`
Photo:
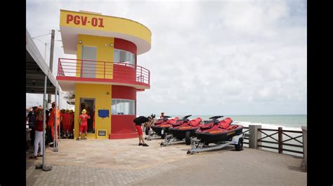
[[[154,126],[151,126],[152,130],[162,138],[164,138],[165,133],[169,132],[169,127],[171,127],[176,120],[179,120],[179,117],[169,119],[170,117],[171,116],[164,115],[163,118],[157,119]]]

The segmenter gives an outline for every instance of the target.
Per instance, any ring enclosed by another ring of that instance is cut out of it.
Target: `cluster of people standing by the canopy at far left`
[[[51,106],[48,106],[48,109],[45,110],[46,113],[46,121],[44,123],[46,141],[45,145],[53,145],[53,139],[55,136],[55,124],[57,127],[57,138],[59,138],[59,124],[61,134],[63,134],[63,138],[70,138],[73,136],[74,129],[74,112],[73,110],[59,110],[55,109],[55,101],[51,103],[48,101]],[[56,110],[56,112],[55,112]],[[56,116],[55,116],[56,115]],[[29,125],[30,131],[30,139],[31,145],[34,146],[34,155],[29,157],[30,159],[36,159],[37,157],[43,156],[43,117],[44,110],[41,106],[34,106],[27,114],[27,124]],[[56,122],[55,122],[56,117]],[[27,149],[28,149],[27,145]],[[40,149],[40,150],[39,150]]]

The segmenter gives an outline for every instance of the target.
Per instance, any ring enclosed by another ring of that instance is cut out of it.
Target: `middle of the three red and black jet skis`
[[[176,122],[169,127],[169,133],[180,141],[185,138],[186,145],[190,145],[190,137],[195,136],[195,131],[201,127],[200,122],[202,121],[202,118],[200,117],[197,117],[194,120],[189,120],[188,117],[190,116],[191,115],[186,115],[185,117],[176,120]]]

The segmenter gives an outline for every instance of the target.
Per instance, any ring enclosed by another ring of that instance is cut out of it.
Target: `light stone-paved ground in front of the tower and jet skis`
[[[185,143],[161,142],[62,139],[59,152],[46,149],[51,171],[34,168],[41,157],[27,159],[27,185],[306,185],[298,157],[233,147],[187,155]]]

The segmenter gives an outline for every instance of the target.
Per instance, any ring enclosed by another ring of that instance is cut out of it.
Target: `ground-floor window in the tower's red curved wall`
[[[112,115],[135,115],[136,102],[131,99],[112,99]]]

